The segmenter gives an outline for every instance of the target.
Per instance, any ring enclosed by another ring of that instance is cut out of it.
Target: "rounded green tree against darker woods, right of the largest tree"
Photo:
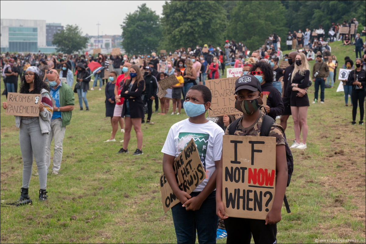
[[[265,44],[273,33],[284,40],[287,30],[284,12],[285,7],[280,1],[238,1],[231,11],[228,37],[243,41],[250,50]]]

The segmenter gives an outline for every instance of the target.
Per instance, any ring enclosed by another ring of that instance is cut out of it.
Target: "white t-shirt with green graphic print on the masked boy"
[[[172,125],[161,152],[177,157],[187,146],[187,143],[192,138],[194,139],[206,171],[206,178],[194,189],[194,192],[200,192],[205,188],[216,169],[215,161],[221,159],[223,135],[223,129],[212,121],[205,124],[194,124],[189,119],[185,119]]]

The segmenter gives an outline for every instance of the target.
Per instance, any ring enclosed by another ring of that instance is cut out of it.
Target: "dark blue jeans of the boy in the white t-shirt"
[[[198,194],[199,192],[192,192],[190,195]],[[196,230],[199,243],[216,243],[216,191],[213,191],[196,211],[187,211],[181,203],[176,204],[172,207],[172,216],[177,243],[195,243]]]

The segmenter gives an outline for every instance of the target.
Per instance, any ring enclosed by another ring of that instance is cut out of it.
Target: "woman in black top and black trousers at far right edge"
[[[365,110],[363,102],[365,101],[365,86],[366,86],[366,72],[362,69],[362,60],[356,59],[356,69],[352,70],[348,75],[347,83],[352,83],[352,125],[356,124],[357,105],[360,107],[360,121],[359,125],[363,125],[363,115]]]

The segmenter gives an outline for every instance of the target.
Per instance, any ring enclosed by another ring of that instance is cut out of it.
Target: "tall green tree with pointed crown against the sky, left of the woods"
[[[122,45],[128,54],[146,54],[156,51],[161,40],[159,16],[142,4],[123,21]]]

